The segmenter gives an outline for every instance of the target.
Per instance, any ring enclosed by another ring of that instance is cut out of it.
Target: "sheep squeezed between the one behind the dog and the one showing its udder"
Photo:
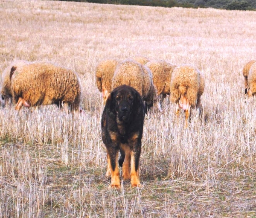
[[[157,94],[163,95],[163,98],[165,98],[166,95],[170,94],[172,71],[176,66],[166,61],[149,61],[145,66],[152,72]]]

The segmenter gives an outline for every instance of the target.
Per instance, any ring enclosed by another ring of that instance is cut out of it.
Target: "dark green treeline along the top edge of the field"
[[[63,0],[102,4],[256,10],[256,0]]]

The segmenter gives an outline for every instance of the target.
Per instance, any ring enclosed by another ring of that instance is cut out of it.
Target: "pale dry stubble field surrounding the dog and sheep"
[[[0,1],[0,71],[13,59],[76,70],[84,115],[54,106],[0,109],[0,217],[256,217],[256,12],[58,1]],[[143,189],[109,190],[94,69],[146,55],[204,73],[202,117],[183,129],[175,105],[145,119]]]

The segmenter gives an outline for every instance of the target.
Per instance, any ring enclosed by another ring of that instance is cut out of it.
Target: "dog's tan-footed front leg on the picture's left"
[[[119,189],[121,185],[120,185],[119,170],[118,170],[118,149],[109,147],[107,148],[107,152],[108,152],[108,168],[110,169],[110,173],[111,173],[110,188]]]

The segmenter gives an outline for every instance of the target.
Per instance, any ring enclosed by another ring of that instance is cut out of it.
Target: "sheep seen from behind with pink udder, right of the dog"
[[[204,76],[194,67],[180,66],[172,72],[170,100],[176,103],[177,118],[180,108],[185,111],[185,128],[188,126],[190,108],[200,106],[204,92]]]

